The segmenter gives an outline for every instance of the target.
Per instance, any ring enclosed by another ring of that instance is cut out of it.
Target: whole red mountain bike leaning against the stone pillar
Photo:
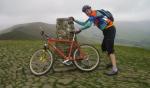
[[[37,50],[30,59],[30,70],[34,75],[44,75],[52,69],[57,54],[64,60],[71,61],[81,71],[93,71],[98,67],[100,56],[98,50],[89,44],[80,45],[76,40],[77,33],[73,33],[72,39],[58,39],[49,37],[41,31],[45,44]],[[67,54],[59,49],[54,43],[65,43],[69,46]]]

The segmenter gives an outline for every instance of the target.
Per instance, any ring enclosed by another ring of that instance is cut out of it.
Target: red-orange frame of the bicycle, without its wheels
[[[73,39],[69,40],[69,39],[56,39],[56,38],[48,38],[47,39],[47,43],[48,43],[48,48],[52,49],[53,51],[55,51],[58,55],[60,55],[63,59],[67,60],[80,60],[83,58],[84,54],[81,52],[80,50],[80,46],[79,44],[75,41],[76,38],[76,34],[74,33]],[[61,42],[61,43],[67,43],[70,47],[69,47],[69,53],[68,55],[65,55],[64,52],[57,48],[55,45],[52,45],[51,43],[57,43],[57,42]],[[79,49],[80,52],[80,58],[73,58],[73,56],[71,55],[73,52],[73,49]]]

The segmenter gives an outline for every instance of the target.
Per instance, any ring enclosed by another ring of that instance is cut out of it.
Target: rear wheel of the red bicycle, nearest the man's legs
[[[81,57],[82,54],[83,57]],[[87,44],[81,45],[80,49],[75,50],[74,58],[74,64],[82,71],[92,71],[99,65],[100,62],[98,50]]]

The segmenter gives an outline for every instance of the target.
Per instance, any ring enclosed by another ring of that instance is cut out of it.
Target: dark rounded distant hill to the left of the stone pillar
[[[4,33],[0,35],[0,39],[40,39],[40,27],[46,31],[49,36],[56,36],[56,28],[53,24],[47,24],[42,22],[19,24],[13,27],[10,27],[3,31]]]

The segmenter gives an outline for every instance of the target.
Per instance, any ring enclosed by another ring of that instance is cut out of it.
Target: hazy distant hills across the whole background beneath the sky
[[[116,44],[131,45],[150,48],[150,21],[145,22],[116,22]],[[2,40],[32,40],[41,39],[40,27],[45,30],[49,36],[56,37],[56,25],[43,22],[25,23],[12,26],[0,33]],[[78,25],[76,25],[78,27]],[[103,34],[95,26],[84,30],[78,35],[78,40],[84,43],[100,43]]]

